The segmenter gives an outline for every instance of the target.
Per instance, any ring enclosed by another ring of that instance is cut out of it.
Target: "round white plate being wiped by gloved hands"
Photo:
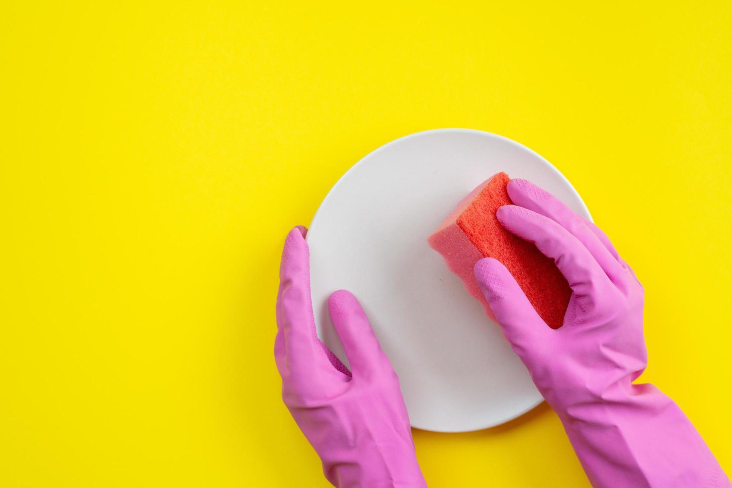
[[[348,364],[327,299],[351,290],[419,429],[485,429],[542,401],[498,326],[427,245],[460,199],[498,171],[533,181],[589,217],[569,181],[531,149],[489,132],[436,129],[361,159],[330,190],[307,233],[318,335]]]

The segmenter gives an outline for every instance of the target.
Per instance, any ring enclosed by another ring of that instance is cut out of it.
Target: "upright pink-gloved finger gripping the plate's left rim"
[[[299,370],[312,369],[327,361],[315,332],[310,298],[310,252],[305,232],[304,227],[298,226],[285,239],[277,292],[277,367],[286,363],[288,368]]]

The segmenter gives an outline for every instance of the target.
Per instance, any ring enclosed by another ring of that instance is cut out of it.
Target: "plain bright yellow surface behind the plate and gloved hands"
[[[731,2],[134,3],[0,7],[0,486],[326,486],[281,245],[436,127],[572,181],[646,286],[643,379],[732,471]],[[414,440],[432,487],[587,486],[546,405]]]

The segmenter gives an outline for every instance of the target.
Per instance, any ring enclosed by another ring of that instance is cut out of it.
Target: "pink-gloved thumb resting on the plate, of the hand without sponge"
[[[351,292],[338,290],[332,293],[328,299],[328,310],[346,350],[354,378],[370,375],[384,367],[391,369],[361,304]]]

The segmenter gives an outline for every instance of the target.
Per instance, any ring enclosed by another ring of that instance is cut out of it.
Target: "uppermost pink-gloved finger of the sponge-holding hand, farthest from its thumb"
[[[507,186],[508,195],[512,202],[525,209],[529,209],[549,217],[554,222],[569,230],[583,246],[590,252],[600,267],[608,275],[610,281],[619,284],[625,274],[623,266],[613,256],[608,247],[597,238],[589,229],[585,221],[578,214],[569,209],[561,201],[525,179],[512,179]]]

